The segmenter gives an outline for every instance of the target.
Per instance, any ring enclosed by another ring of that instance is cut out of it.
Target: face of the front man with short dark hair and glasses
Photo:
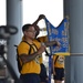
[[[34,27],[30,27],[27,31],[25,31],[25,37],[29,39],[34,39],[35,38],[35,29]]]

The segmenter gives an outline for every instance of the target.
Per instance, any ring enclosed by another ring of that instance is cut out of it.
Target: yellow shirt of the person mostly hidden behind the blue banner
[[[53,55],[53,60],[55,61],[56,55]],[[54,64],[54,68],[63,68],[64,69],[64,55],[59,55],[56,59],[56,62]]]

